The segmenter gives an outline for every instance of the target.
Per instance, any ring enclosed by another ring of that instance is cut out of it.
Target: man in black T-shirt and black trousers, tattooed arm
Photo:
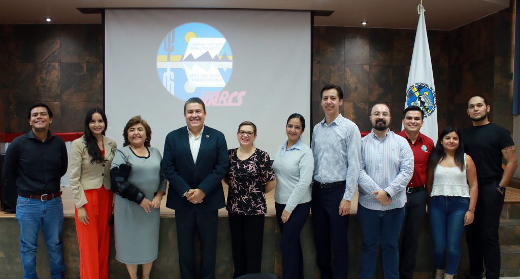
[[[484,265],[486,278],[494,279],[500,275],[498,228],[505,187],[518,166],[516,149],[510,132],[489,122],[491,107],[486,97],[473,95],[467,105],[473,126],[462,131],[462,142],[475,162],[478,178],[475,220],[466,227],[470,278],[482,278]],[[507,162],[505,169],[502,157]]]

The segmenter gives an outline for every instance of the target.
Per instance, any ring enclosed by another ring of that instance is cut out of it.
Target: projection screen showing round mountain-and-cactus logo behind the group
[[[168,132],[186,126],[184,102],[206,104],[205,125],[238,147],[243,121],[257,126],[255,146],[274,157],[285,122],[310,125],[311,14],[300,11],[106,9],[107,136],[141,115],[161,152]],[[310,131],[303,134],[309,144]]]

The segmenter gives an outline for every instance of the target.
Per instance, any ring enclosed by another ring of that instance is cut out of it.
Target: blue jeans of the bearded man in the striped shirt
[[[399,234],[405,207],[391,210],[372,210],[358,204],[357,218],[361,227],[363,247],[361,249],[360,278],[373,278],[381,243],[383,274],[385,279],[399,278]]]

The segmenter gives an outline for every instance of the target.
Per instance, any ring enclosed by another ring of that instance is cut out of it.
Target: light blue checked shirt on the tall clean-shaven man
[[[358,126],[341,114],[329,125],[323,119],[314,126],[310,148],[314,154],[314,180],[321,183],[345,180],[343,199],[352,201],[361,168]]]

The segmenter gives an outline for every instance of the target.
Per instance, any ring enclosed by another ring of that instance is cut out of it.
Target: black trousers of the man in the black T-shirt
[[[483,265],[486,267],[487,279],[499,278],[500,275],[498,227],[505,193],[501,195],[498,192],[499,182],[478,181],[475,220],[466,226],[471,278],[482,278]]]

